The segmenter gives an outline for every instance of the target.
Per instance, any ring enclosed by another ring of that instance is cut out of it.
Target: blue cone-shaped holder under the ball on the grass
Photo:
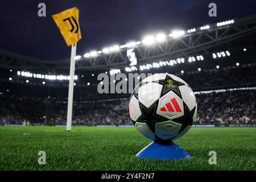
[[[174,142],[163,145],[160,143],[152,142],[144,147],[136,154],[138,158],[151,158],[151,159],[185,159],[192,158],[187,151],[181,148]]]

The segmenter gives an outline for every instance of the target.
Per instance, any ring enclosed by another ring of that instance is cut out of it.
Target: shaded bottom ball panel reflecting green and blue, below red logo
[[[163,140],[168,140],[177,136],[181,126],[173,121],[158,122],[155,123],[155,134]]]

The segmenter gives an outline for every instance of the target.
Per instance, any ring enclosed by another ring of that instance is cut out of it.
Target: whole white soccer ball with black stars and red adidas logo
[[[151,75],[139,82],[130,97],[129,114],[133,125],[156,142],[170,142],[187,133],[196,113],[195,94],[175,75]]]

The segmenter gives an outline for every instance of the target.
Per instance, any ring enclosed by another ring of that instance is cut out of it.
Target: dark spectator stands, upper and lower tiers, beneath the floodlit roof
[[[227,88],[255,86],[255,73],[255,67],[246,67],[213,69],[181,76],[194,91],[197,91],[198,113],[195,124],[255,124],[256,90],[225,91]],[[63,91],[63,87],[28,86],[5,82],[1,85],[2,125],[65,125],[67,90]],[[6,92],[7,88],[9,92]],[[130,125],[127,107],[130,94],[125,94],[126,97],[124,94],[98,94],[94,90],[96,88],[76,86],[73,125]],[[47,89],[51,91],[47,92]],[[198,92],[216,89],[222,90]]]

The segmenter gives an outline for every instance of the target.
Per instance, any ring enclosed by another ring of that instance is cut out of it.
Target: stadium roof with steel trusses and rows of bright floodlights
[[[243,59],[237,49],[253,48],[256,32],[256,15],[238,19],[222,20],[213,24],[202,24],[188,30],[163,32],[162,40],[159,35],[149,35],[146,39],[136,40],[134,44],[118,45],[88,53],[76,61],[77,70],[109,70],[122,69],[123,71],[137,71],[137,69],[157,68],[172,64],[184,64],[207,59],[236,54],[236,59]],[[165,39],[163,39],[163,35]],[[111,48],[113,48],[112,51]],[[138,65],[135,69],[127,67],[126,50],[134,48],[138,55]],[[101,51],[99,53],[99,51]],[[255,51],[252,52],[255,57]],[[39,60],[0,50],[0,67],[19,69],[40,69],[41,71],[68,70],[69,59],[63,61]]]

